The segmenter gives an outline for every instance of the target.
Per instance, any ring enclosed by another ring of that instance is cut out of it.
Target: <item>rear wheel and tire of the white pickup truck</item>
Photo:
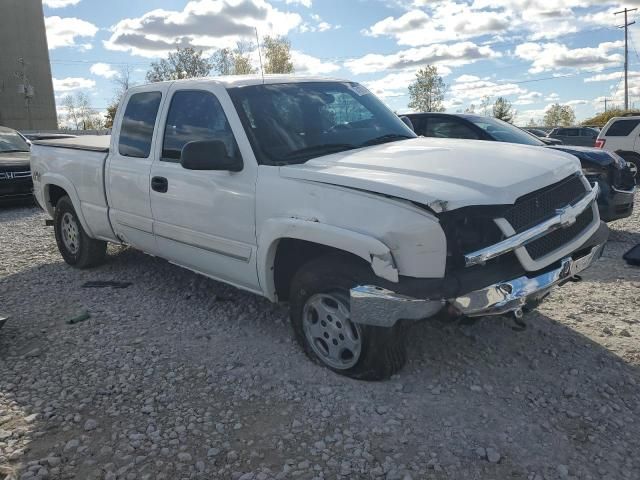
[[[58,250],[69,265],[85,269],[104,262],[107,243],[87,235],[69,197],[58,200],[53,225]]]

